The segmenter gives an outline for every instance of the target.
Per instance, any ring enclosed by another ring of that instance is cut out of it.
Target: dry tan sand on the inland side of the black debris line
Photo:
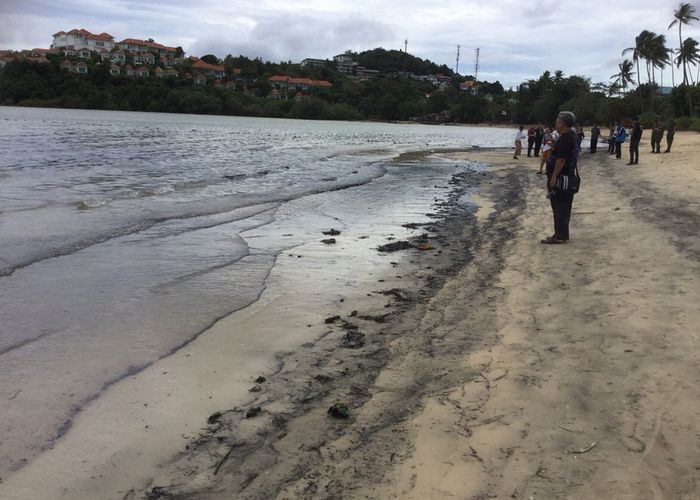
[[[496,177],[479,196],[494,206],[476,216],[470,258],[358,352],[371,369],[270,417],[257,447],[240,434],[252,420],[217,416],[215,458],[186,454],[149,494],[692,498],[700,218],[688,177],[664,173],[697,178],[700,137],[677,134],[674,150],[632,169],[584,155],[572,242],[556,248],[538,244],[551,214],[536,161],[488,155]],[[347,400],[348,421],[327,416]]]

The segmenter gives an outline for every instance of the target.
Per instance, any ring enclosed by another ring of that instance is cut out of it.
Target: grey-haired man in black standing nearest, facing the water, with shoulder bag
[[[571,130],[576,118],[570,111],[562,111],[557,117],[557,132],[559,139],[552,147],[553,161],[547,162],[547,189],[549,202],[552,205],[554,217],[554,234],[541,240],[548,245],[566,243],[569,241],[569,221],[574,194],[557,190],[557,179],[560,175],[571,175],[576,167],[576,134]]]

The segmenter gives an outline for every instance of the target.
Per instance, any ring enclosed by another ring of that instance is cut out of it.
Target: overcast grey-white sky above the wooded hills
[[[692,2],[700,12],[700,0]],[[189,55],[299,62],[347,49],[403,49],[504,86],[561,69],[594,81],[617,72],[622,49],[643,29],[666,34],[679,2],[554,0],[0,0],[0,49],[48,47],[57,31],[154,38]],[[698,15],[700,17],[700,15]],[[684,27],[700,39],[700,23]],[[670,84],[666,71],[664,84]]]

